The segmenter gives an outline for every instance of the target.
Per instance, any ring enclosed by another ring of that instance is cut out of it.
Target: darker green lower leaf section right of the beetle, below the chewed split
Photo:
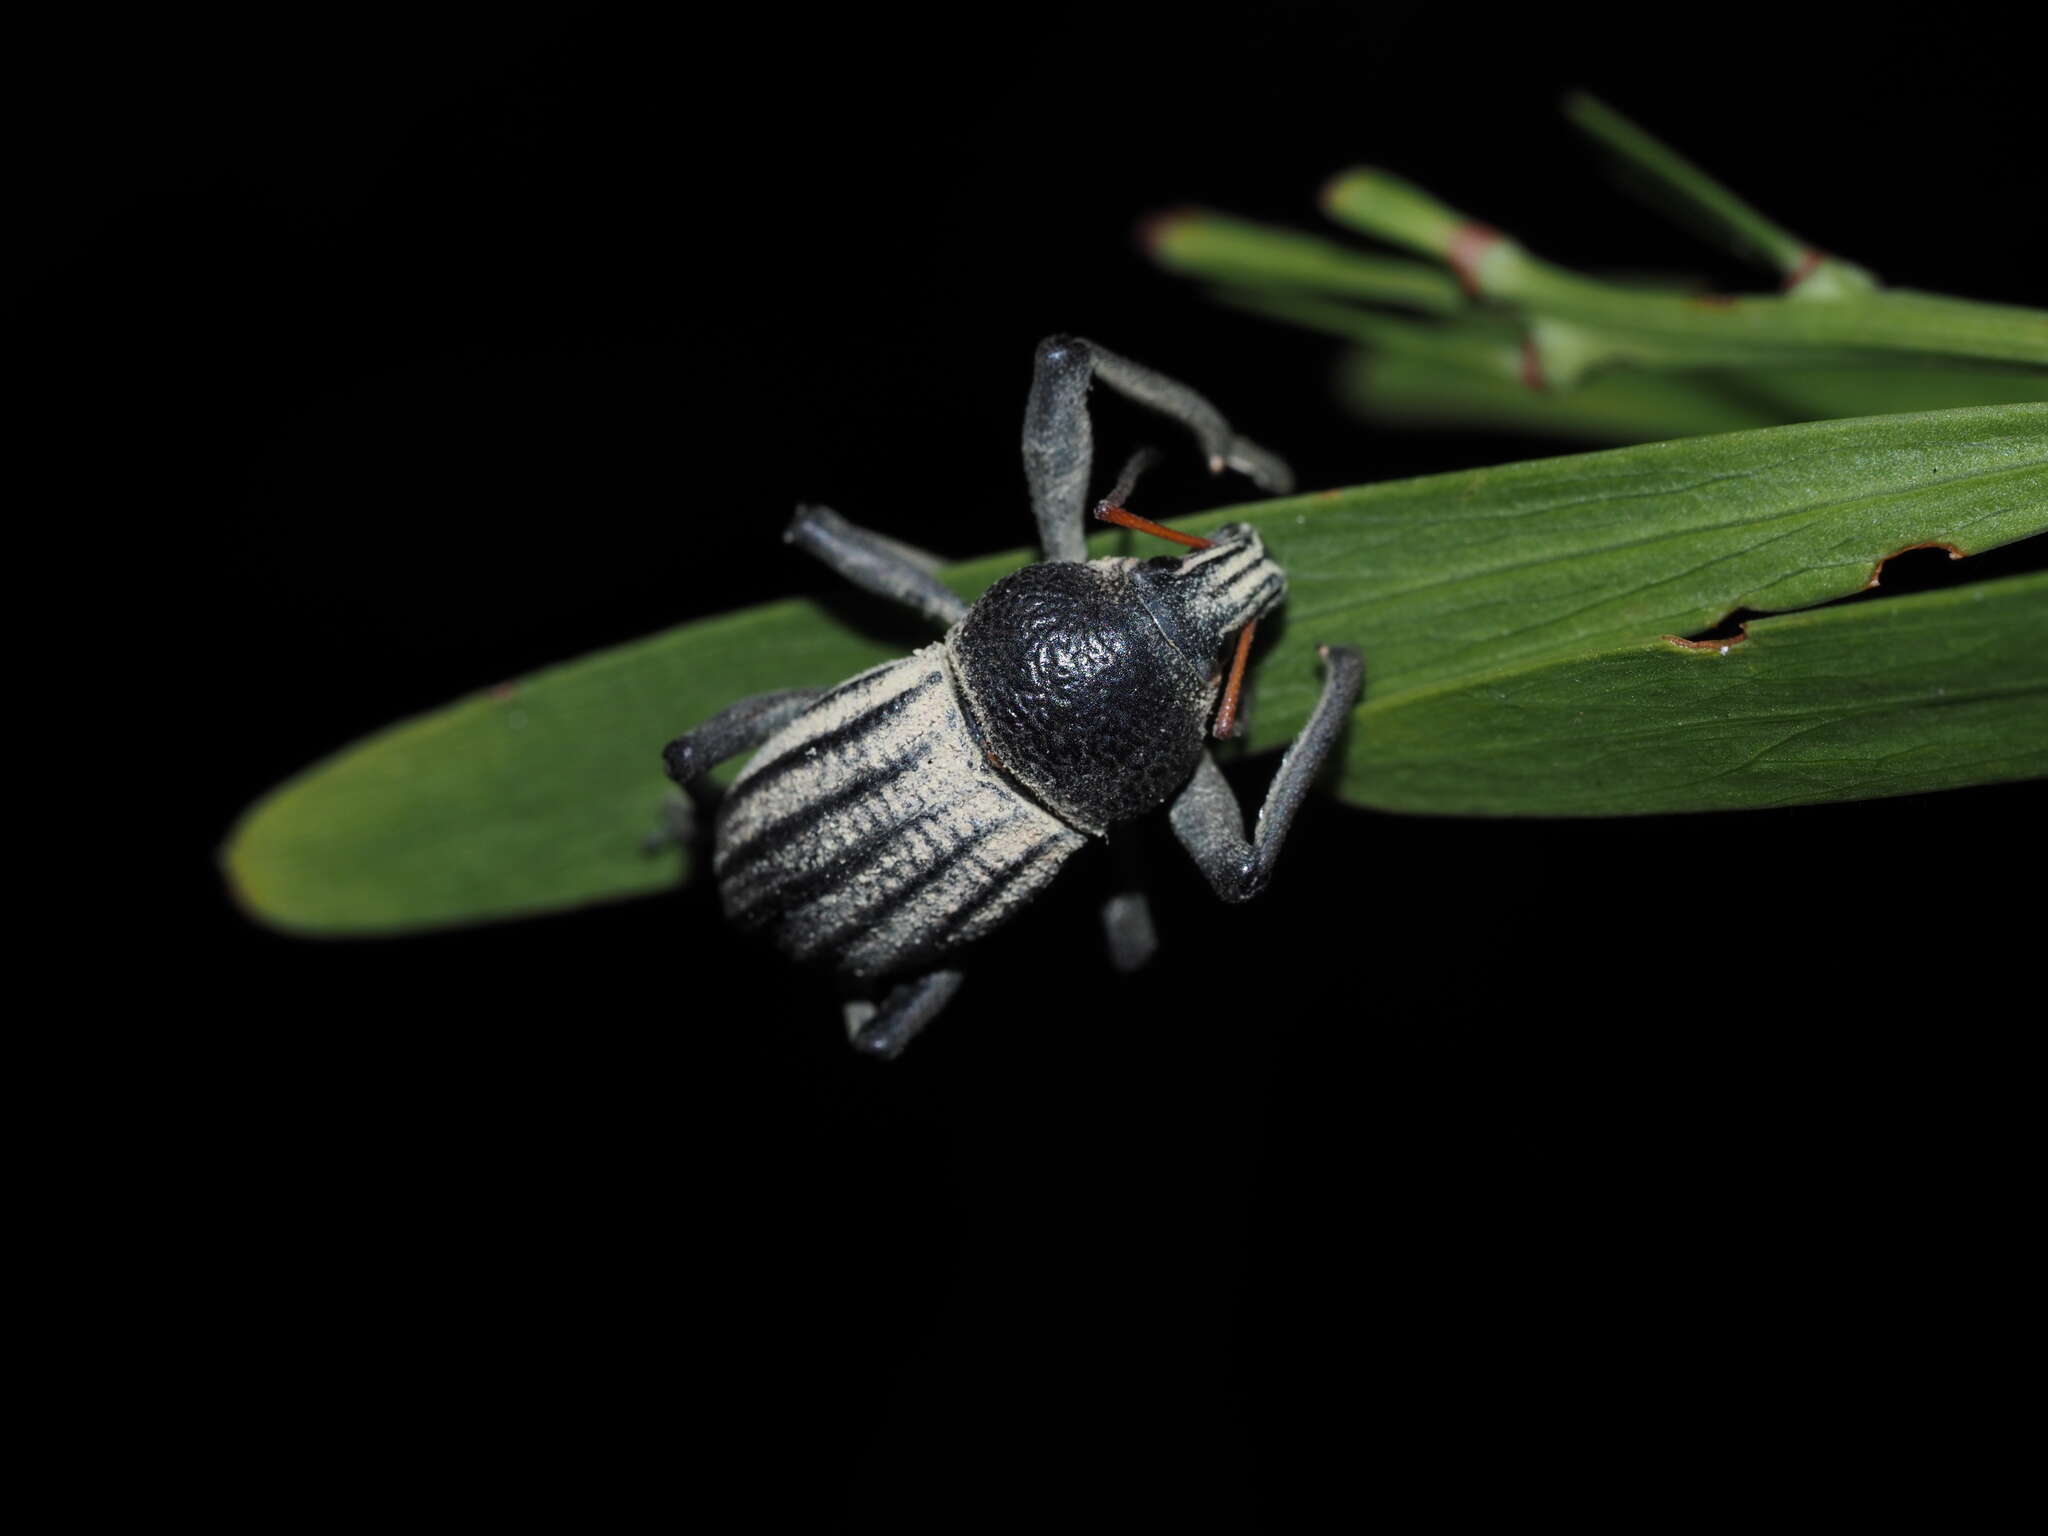
[[[1628,815],[2048,774],[2048,573],[1759,618],[1366,705],[1343,793]]]

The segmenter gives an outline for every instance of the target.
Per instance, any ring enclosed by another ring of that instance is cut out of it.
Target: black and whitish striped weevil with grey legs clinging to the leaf
[[[1210,473],[1235,469],[1266,492],[1292,485],[1280,459],[1237,436],[1188,385],[1094,342],[1047,338],[1024,410],[1044,559],[967,604],[932,573],[934,557],[829,508],[797,508],[786,543],[915,608],[944,639],[836,688],[745,698],[662,754],[694,795],[711,768],[754,752],[715,817],[725,915],[858,987],[893,981],[879,1001],[846,1006],[852,1044],[877,1057],[901,1053],[952,999],[963,946],[1120,821],[1171,801],[1174,831],[1217,895],[1255,895],[1358,702],[1358,651],[1321,647],[1315,711],[1247,840],[1204,737],[1210,721],[1219,737],[1235,729],[1251,629],[1284,600],[1286,575],[1247,524],[1198,539],[1126,512],[1141,461],[1096,516],[1190,553],[1087,559],[1092,381],[1190,428]],[[1118,965],[1143,963],[1143,899],[1120,895],[1104,918]]]

